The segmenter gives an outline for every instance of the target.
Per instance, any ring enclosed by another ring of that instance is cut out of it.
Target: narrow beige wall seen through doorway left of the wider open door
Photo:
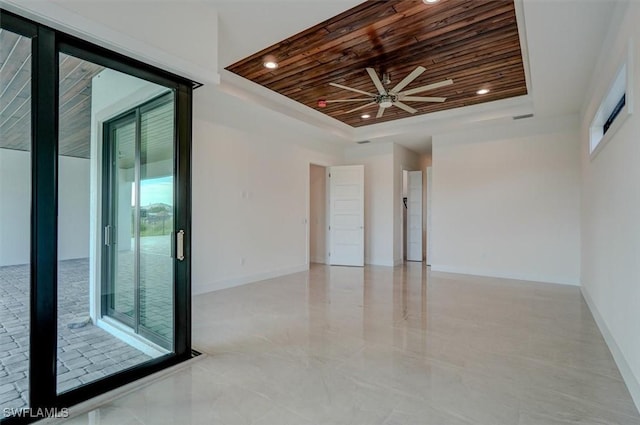
[[[309,168],[309,261],[325,263],[327,259],[327,169]]]

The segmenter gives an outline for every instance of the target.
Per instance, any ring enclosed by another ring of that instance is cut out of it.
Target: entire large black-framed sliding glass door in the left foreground
[[[191,358],[194,83],[2,9],[0,43],[4,425]]]

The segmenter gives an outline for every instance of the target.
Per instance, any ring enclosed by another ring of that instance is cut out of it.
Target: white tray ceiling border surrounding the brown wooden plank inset
[[[345,129],[335,120],[301,111],[254,83],[222,72],[222,85],[253,92],[252,99],[264,104],[277,102],[278,110],[320,126],[335,125],[347,142],[393,141],[417,152],[431,150],[431,136],[460,127],[461,123],[511,120],[514,115],[577,114],[591,77],[616,2],[619,0],[523,0],[517,1],[520,31],[527,40],[525,63],[529,63],[530,95],[493,102],[464,110],[445,111],[423,117]],[[233,0],[214,1],[219,16],[220,68],[277,43],[360,3],[359,0]],[[523,22],[524,21],[524,22]],[[524,28],[523,28],[524,27]],[[250,96],[251,97],[251,96]],[[293,102],[295,103],[295,102]],[[307,118],[301,118],[307,115]],[[340,123],[341,124],[341,123]]]

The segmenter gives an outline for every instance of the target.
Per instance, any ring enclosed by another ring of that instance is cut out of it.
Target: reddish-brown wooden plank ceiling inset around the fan
[[[277,69],[263,66],[269,55]],[[394,106],[375,118],[377,105],[346,113],[366,102],[320,108],[320,99],[363,97],[329,83],[377,93],[366,67],[388,73],[391,88],[417,66],[426,71],[405,90],[446,79],[454,84],[416,95],[446,97],[444,103],[406,102],[416,115],[525,95],[513,0],[367,1],[226,69],[359,127],[412,115]],[[476,94],[482,88],[490,92]]]

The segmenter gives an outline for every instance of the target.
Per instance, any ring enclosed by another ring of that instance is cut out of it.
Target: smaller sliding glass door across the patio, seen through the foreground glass
[[[173,103],[173,93],[162,94],[107,122],[104,132],[104,311],[166,350],[173,347],[173,247],[182,243],[173,226]]]

